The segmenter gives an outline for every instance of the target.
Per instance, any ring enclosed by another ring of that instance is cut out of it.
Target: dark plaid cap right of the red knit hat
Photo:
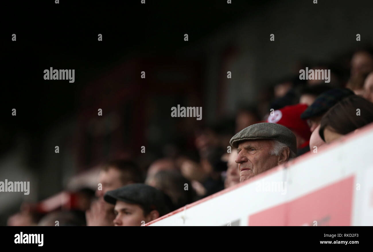
[[[333,88],[317,96],[316,100],[302,114],[301,119],[308,119],[320,116],[328,111],[344,97],[350,96],[354,92],[348,88]]]

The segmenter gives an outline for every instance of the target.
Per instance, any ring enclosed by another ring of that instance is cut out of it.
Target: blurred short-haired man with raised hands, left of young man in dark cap
[[[103,200],[104,194],[109,190],[115,190],[128,184],[142,182],[141,171],[134,162],[115,160],[104,165],[98,178],[98,183],[102,184],[102,188],[98,187],[96,190],[96,195],[99,199],[93,202],[91,208],[86,211],[87,225],[113,225],[113,220],[115,218],[114,208]]]

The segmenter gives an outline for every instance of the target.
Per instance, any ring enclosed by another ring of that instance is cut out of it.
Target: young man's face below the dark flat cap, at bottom
[[[144,215],[144,210],[138,204],[130,204],[120,200],[116,201],[114,213],[116,215],[114,219],[115,226],[141,226],[145,221],[148,223],[159,217],[159,212],[153,210],[148,215]]]

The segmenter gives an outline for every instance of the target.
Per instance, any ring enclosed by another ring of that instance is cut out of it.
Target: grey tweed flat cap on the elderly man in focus
[[[294,153],[297,153],[297,138],[291,130],[272,122],[261,122],[250,125],[235,134],[229,143],[237,148],[241,141],[260,139],[279,141],[280,143],[288,145]]]

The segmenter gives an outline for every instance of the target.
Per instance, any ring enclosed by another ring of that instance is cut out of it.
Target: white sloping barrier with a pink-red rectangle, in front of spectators
[[[373,225],[373,125],[146,225]]]

